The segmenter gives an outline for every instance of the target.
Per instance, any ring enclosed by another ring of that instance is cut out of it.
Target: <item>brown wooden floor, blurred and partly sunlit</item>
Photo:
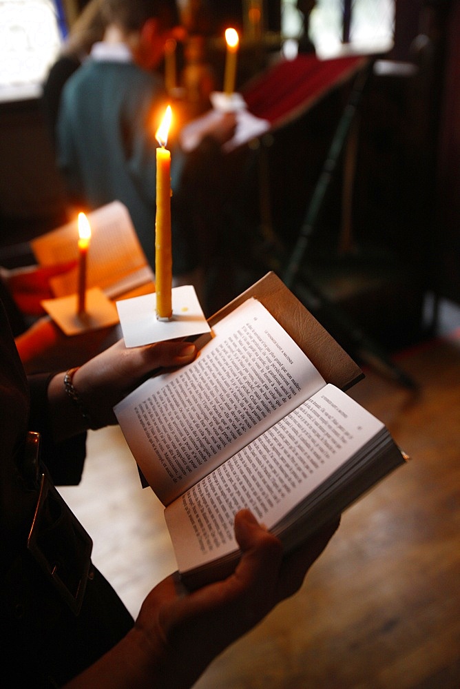
[[[302,590],[196,689],[460,688],[460,338],[398,360],[417,393],[366,372],[351,395],[412,461],[344,514]],[[83,483],[62,493],[136,615],[175,563],[163,508],[140,489],[118,429],[90,435]]]

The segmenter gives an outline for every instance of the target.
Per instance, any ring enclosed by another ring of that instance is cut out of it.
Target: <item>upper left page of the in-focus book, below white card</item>
[[[251,298],[187,367],[148,380],[114,411],[145,478],[168,504],[280,420],[324,380]]]

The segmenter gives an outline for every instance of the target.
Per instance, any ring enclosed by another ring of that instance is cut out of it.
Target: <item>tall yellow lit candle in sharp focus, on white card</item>
[[[156,317],[172,316],[172,251],[171,251],[171,153],[167,150],[171,106],[156,132],[156,220],[155,220],[155,291]]]

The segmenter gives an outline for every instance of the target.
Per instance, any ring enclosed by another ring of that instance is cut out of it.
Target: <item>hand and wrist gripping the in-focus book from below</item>
[[[151,647],[158,630],[163,641],[160,663],[145,674],[147,683],[162,689],[194,685],[214,657],[300,588],[336,528],[337,522],[322,528],[283,557],[278,539],[249,511],[239,512],[235,531],[242,557],[235,575],[192,593],[171,575],[145,599],[136,621],[138,629],[149,633],[143,648]],[[132,661],[131,650],[129,658]]]

